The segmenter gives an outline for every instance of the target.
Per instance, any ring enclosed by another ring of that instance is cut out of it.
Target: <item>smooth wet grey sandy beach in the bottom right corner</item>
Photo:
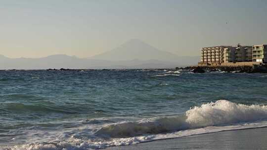
[[[267,128],[223,131],[105,150],[267,150]]]

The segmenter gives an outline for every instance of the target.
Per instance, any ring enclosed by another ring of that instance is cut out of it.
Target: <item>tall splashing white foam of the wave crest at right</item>
[[[194,107],[186,111],[186,122],[192,127],[205,127],[220,124],[267,119],[267,106],[242,105],[219,100]]]

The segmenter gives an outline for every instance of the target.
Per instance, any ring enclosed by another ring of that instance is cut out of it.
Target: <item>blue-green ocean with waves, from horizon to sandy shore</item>
[[[0,150],[96,150],[267,127],[267,74],[0,71]]]

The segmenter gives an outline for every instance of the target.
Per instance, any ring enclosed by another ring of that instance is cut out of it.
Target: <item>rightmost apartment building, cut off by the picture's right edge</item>
[[[253,45],[252,60],[253,62],[267,63],[267,45]]]

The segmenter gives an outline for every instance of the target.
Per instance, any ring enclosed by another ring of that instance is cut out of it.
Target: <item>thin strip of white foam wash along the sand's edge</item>
[[[167,134],[143,135],[131,138],[113,138],[111,140],[102,142],[92,142],[90,140],[82,140],[71,137],[67,141],[62,141],[62,142],[51,142],[48,144],[32,143],[32,144],[17,145],[11,147],[0,147],[0,150],[98,150],[107,147],[133,145],[155,140],[164,140],[164,139],[180,138],[198,134],[214,133],[214,132],[229,131],[229,130],[261,128],[261,127],[267,127],[267,122],[249,123],[249,124],[245,123],[245,124],[236,124],[228,126],[211,126],[198,129],[182,130]]]

